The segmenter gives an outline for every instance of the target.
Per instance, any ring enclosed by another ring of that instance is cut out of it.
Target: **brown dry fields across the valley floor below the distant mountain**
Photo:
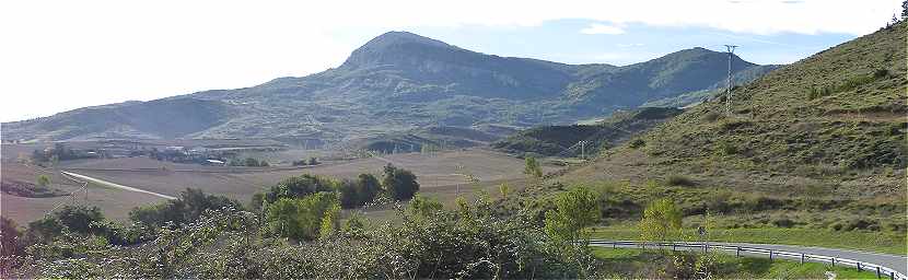
[[[51,187],[71,191],[79,186],[59,175],[59,171],[68,171],[168,196],[178,196],[182,190],[193,187],[247,203],[255,192],[276,184],[284,177],[304,173],[337,178],[353,178],[361,173],[381,175],[382,168],[388,163],[412,171],[418,176],[421,194],[435,197],[449,205],[458,195],[458,185],[461,195],[467,196],[476,194],[480,189],[497,195],[497,186],[501,183],[511,184],[512,189],[524,185],[523,160],[480,149],[431,155],[418,153],[394,154],[382,158],[326,162],[312,167],[203,166],[161,162],[147,158],[121,158],[67,161],[54,168],[40,168],[15,163],[11,159],[4,158],[2,179],[34,182],[39,173],[44,173],[53,175],[54,185]],[[458,171],[457,166],[463,167]],[[544,168],[550,172],[556,167],[544,166]],[[465,177],[457,175],[457,173],[472,174],[479,177],[480,182],[468,184]],[[40,218],[55,205],[67,199],[70,202],[86,202],[83,197],[72,200],[70,197],[23,198],[2,194],[2,214],[20,223],[26,223]],[[124,220],[131,208],[162,200],[147,194],[91,185],[88,202],[101,207],[108,218]],[[388,214],[387,211],[369,211],[369,215],[381,217],[386,214]]]

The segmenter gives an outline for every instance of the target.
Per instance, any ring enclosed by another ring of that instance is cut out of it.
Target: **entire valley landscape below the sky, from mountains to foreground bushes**
[[[906,34],[613,66],[386,32],[3,122],[0,277],[906,279]]]

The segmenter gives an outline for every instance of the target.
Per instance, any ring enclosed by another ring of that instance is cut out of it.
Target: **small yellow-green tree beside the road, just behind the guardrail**
[[[640,233],[643,241],[664,242],[682,228],[682,210],[668,198],[656,200],[643,210]]]

